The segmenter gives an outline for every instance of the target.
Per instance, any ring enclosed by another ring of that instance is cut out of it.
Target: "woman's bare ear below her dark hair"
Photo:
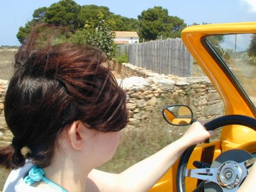
[[[75,121],[72,123],[68,129],[68,138],[70,140],[71,146],[76,150],[81,150],[83,147],[83,124],[81,121]]]

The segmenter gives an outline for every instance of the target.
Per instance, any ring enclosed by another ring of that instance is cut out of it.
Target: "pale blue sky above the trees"
[[[0,45],[19,45],[20,26],[32,19],[34,10],[57,3],[54,0],[3,0],[0,3]],[[76,0],[77,4],[108,6],[110,12],[137,19],[143,10],[162,6],[169,15],[196,22],[223,23],[256,21],[256,0]]]

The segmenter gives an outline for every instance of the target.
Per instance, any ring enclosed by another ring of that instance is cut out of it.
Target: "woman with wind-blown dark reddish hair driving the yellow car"
[[[147,191],[186,148],[215,134],[195,122],[182,138],[122,173],[95,170],[111,159],[127,124],[125,92],[99,50],[39,49],[36,39],[34,30],[20,47],[6,92],[13,141],[0,149],[0,164],[14,170],[4,191]]]

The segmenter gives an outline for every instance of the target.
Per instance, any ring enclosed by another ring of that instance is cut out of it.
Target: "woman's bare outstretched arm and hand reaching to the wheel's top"
[[[186,148],[205,141],[215,134],[214,131],[205,131],[204,126],[199,122],[195,122],[182,138],[159,150],[156,154],[127,168],[124,172],[110,174],[95,171],[90,173],[89,177],[92,180],[99,181],[101,184],[97,184],[97,186],[100,189],[104,189],[103,191],[148,191],[177,161]],[[106,182],[102,183],[102,181],[106,180],[108,180],[108,184]]]

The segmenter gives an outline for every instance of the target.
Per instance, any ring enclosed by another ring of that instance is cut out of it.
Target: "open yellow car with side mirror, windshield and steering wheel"
[[[188,148],[150,191],[236,191],[256,159],[256,22],[189,26],[182,41],[223,101],[225,116],[205,125],[222,127],[221,135]],[[166,106],[163,115],[193,122],[186,106]]]

